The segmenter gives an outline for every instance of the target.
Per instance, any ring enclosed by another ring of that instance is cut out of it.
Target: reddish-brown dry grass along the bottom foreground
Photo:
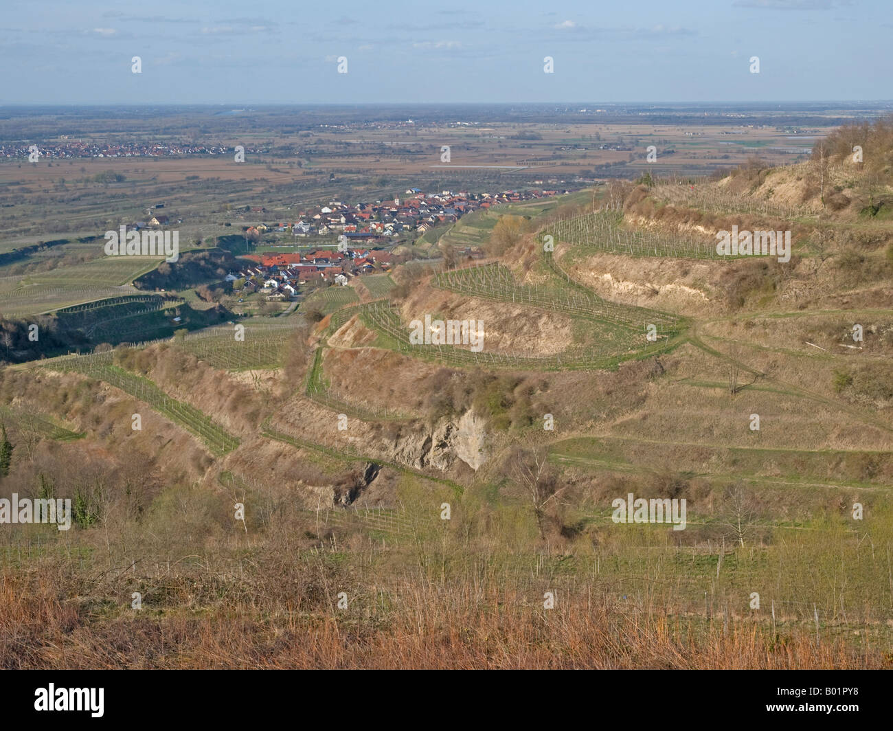
[[[63,575],[0,583],[4,668],[883,668],[805,628],[779,632],[722,618],[695,626],[655,608],[624,610],[591,594],[555,609],[512,590],[403,581],[342,612],[260,610],[257,597],[201,612],[124,612],[66,597]],[[374,588],[374,587],[373,587]],[[387,606],[386,606],[387,604]],[[129,611],[129,609],[124,610]]]

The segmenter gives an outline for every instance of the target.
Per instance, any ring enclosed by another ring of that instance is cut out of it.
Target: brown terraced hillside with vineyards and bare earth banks
[[[866,161],[884,129],[863,130]],[[0,658],[889,667],[893,188],[842,144],[469,216],[438,232],[452,267],[325,290],[316,323],[0,371],[4,494],[49,483],[81,506],[35,549],[71,631],[24,625],[51,589],[22,576],[4,621],[33,649]],[[790,231],[789,260],[718,255],[732,227]],[[453,251],[472,246],[486,258]],[[482,347],[413,340],[438,320],[480,323]],[[630,493],[686,500],[684,529],[613,520]],[[80,592],[72,556],[103,577]],[[221,638],[234,616],[255,643]]]

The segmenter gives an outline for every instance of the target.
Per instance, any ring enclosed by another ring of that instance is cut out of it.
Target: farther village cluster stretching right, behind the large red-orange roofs
[[[246,232],[267,231],[291,233],[293,236],[344,236],[346,240],[384,242],[407,232],[424,233],[441,223],[455,223],[464,214],[505,203],[558,195],[558,190],[505,190],[499,193],[469,194],[444,190],[423,193],[410,188],[403,197],[376,203],[348,206],[334,200],[326,206],[305,210],[289,223],[259,223]],[[263,207],[250,209],[251,214],[266,213]]]

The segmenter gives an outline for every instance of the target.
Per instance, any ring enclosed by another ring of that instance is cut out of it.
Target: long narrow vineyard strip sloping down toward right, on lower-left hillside
[[[208,450],[218,457],[238,447],[238,439],[226,432],[219,424],[215,424],[209,416],[205,416],[190,404],[169,396],[149,379],[114,366],[112,359],[113,353],[108,351],[89,356],[56,358],[42,367],[52,368],[55,371],[84,374],[129,393],[130,396],[145,402],[155,411],[167,416],[172,422],[194,433],[204,441]]]

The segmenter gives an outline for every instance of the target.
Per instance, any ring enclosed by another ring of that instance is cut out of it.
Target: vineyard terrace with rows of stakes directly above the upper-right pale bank
[[[623,256],[672,256],[682,259],[730,258],[716,253],[716,240],[683,237],[626,228],[623,215],[615,211],[598,211],[553,223],[540,231],[540,236],[551,235],[555,242],[565,241],[574,246],[589,248],[606,254]]]

